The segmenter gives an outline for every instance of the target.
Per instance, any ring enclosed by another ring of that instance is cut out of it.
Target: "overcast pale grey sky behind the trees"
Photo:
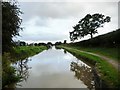
[[[86,14],[100,13],[111,17],[111,22],[98,29],[104,34],[118,28],[117,2],[19,2],[24,13],[23,31],[15,40],[30,42],[56,42],[69,40],[69,32]],[[83,39],[88,39],[86,36]],[[81,39],[81,40],[83,40]]]

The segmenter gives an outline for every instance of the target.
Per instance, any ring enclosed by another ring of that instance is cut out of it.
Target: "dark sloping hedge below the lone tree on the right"
[[[76,43],[70,43],[70,45],[82,46],[82,47],[115,47],[120,46],[120,29],[109,32],[104,35],[97,36],[92,39],[83,40]]]

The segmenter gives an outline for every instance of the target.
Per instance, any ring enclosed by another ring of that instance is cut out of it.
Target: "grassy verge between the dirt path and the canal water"
[[[75,55],[77,58],[80,58],[83,61],[87,61],[92,65],[96,63],[96,68],[100,75],[100,78],[104,80],[105,83],[111,88],[119,87],[120,85],[119,80],[118,80],[119,73],[111,64],[107,63],[105,60],[97,56],[90,55],[84,52],[80,52],[79,50],[75,48],[65,47],[65,46],[59,46],[59,47],[64,48],[68,52]]]

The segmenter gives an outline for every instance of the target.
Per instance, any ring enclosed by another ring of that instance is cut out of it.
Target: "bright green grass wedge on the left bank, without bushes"
[[[19,46],[14,48],[15,53],[13,53],[12,56],[15,61],[23,60],[46,49],[46,46]]]

